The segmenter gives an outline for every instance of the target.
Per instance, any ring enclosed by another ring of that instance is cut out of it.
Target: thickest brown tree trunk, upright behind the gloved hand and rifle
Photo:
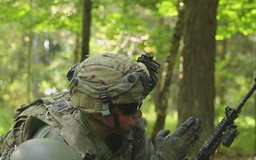
[[[178,95],[178,124],[188,117],[202,119],[203,132],[198,143],[201,145],[213,130],[218,0],[189,0],[185,3],[183,78]]]

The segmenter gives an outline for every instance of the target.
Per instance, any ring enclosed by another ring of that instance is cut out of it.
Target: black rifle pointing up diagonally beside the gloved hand
[[[236,109],[226,107],[225,108],[225,117],[220,121],[217,127],[213,130],[212,134],[206,139],[203,146],[199,150],[196,157],[193,160],[209,160],[210,155],[214,153],[215,149],[222,143],[224,146],[229,147],[235,137],[238,136],[238,130],[236,129],[237,126],[234,125],[235,119],[238,118],[238,114],[241,112],[241,108],[245,105],[245,102],[250,98],[252,93],[256,90],[256,77],[255,83],[247,92],[244,99]]]

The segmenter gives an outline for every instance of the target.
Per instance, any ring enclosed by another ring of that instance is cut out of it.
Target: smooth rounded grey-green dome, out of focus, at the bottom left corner
[[[82,160],[72,147],[54,139],[31,139],[12,152],[9,160]]]

